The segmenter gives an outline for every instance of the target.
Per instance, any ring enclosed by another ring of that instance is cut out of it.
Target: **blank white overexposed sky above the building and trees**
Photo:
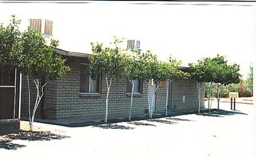
[[[16,14],[22,30],[28,18],[51,20],[59,48],[78,53],[91,53],[90,43],[109,43],[114,36],[140,40],[142,50],[161,60],[171,54],[183,66],[219,53],[240,65],[243,78],[248,75],[256,48],[253,3],[136,3],[0,3],[0,21],[6,24]]]

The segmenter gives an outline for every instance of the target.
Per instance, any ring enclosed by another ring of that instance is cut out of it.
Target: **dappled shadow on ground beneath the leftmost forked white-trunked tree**
[[[24,147],[24,145],[19,145],[11,143],[12,140],[21,139],[28,141],[50,141],[52,139],[66,139],[70,136],[61,136],[58,134],[50,133],[49,131],[40,131],[40,132],[29,132],[21,131],[19,133],[10,133],[8,135],[0,136],[0,149],[12,149],[16,150]]]

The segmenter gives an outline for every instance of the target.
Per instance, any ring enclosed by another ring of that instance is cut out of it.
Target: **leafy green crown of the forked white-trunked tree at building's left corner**
[[[66,60],[53,51],[57,40],[52,40],[51,45],[47,46],[41,34],[28,29],[21,34],[21,42],[20,68],[33,79],[43,75],[57,79],[70,71],[70,67],[65,66]]]

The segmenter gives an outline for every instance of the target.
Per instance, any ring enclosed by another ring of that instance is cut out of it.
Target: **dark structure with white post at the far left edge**
[[[21,73],[0,71],[0,134],[20,129]]]

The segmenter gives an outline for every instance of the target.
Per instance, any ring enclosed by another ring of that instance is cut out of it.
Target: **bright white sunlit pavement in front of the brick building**
[[[215,102],[213,106],[215,107]],[[254,157],[255,107],[237,104],[230,111],[222,102],[219,113],[190,114],[97,127],[37,126],[59,130],[66,139],[14,140],[17,150],[0,149],[3,156],[215,156]]]

